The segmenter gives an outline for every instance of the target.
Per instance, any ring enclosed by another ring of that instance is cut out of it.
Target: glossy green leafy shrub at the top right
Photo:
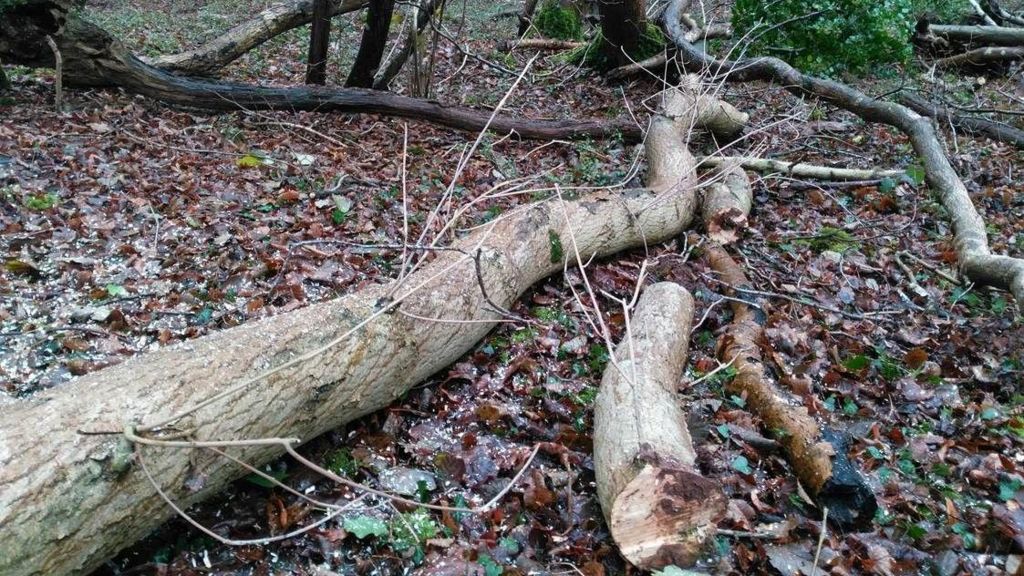
[[[900,64],[912,55],[916,18],[954,19],[966,0],[736,0],[732,24],[754,54],[835,75]]]

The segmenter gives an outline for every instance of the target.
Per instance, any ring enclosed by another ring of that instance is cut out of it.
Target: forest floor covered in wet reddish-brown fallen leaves
[[[177,51],[267,2],[108,0],[87,14],[139,53]],[[521,70],[532,54],[499,51],[511,3],[449,7],[465,45]],[[335,19],[330,74],[340,83],[360,15]],[[225,71],[227,78],[299,84],[305,29]],[[924,63],[922,63],[924,64]],[[341,296],[397,274],[400,251],[352,243],[411,237],[449,186],[472,134],[374,116],[210,115],[117,91],[70,91],[52,109],[53,77],[8,67],[0,104],[0,404],[159,345]],[[1009,74],[899,74],[854,80],[869,93],[908,82],[966,108],[1024,110],[1020,68]],[[329,76],[330,78],[331,76]],[[492,107],[513,75],[441,41],[435,97]],[[403,91],[403,80],[394,88]],[[938,87],[938,88],[937,88]],[[609,85],[542,54],[504,112],[531,118],[644,122],[653,79]],[[735,153],[845,167],[908,168],[891,128],[777,87],[722,87],[752,115]],[[999,117],[1018,122],[1020,116]],[[408,132],[408,146],[403,145]],[[946,130],[949,154],[997,253],[1024,250],[1024,153]],[[454,188],[470,200],[521,178],[525,192],[476,205],[465,227],[558,184],[639,183],[639,147],[615,139],[547,146],[487,135]],[[710,141],[692,142],[710,151]],[[406,190],[402,190],[402,166]],[[6,174],[4,173],[6,170]],[[912,178],[911,178],[912,179]],[[1015,183],[1015,181],[1017,183]],[[760,290],[772,374],[828,426],[880,500],[871,526],[824,528],[758,421],[723,392],[714,342],[730,315],[701,257],[700,238],[620,254],[587,269],[595,290],[631,295],[647,281],[686,286],[698,310],[679,383],[700,470],[722,483],[729,512],[700,570],[715,574],[1014,573],[1024,553],[1024,327],[1005,293],[955,277],[945,210],[926,187],[756,179],[749,230],[730,251]],[[344,240],[339,244],[335,240]],[[911,278],[912,277],[912,278]],[[304,536],[229,547],[175,520],[97,574],[622,574],[594,489],[592,403],[608,347],[584,321],[579,271],[530,290],[506,323],[447,371],[390,408],[308,443],[306,454],[368,485],[458,504],[508,483],[548,443],[521,485],[485,516],[426,513],[364,498]],[[602,314],[621,336],[614,300]],[[696,382],[696,384],[694,384]],[[748,439],[748,440],[743,440]],[[269,471],[321,499],[359,496],[282,460]],[[312,510],[258,477],[190,512],[232,538],[301,526]],[[1021,573],[1021,572],[1017,572]]]

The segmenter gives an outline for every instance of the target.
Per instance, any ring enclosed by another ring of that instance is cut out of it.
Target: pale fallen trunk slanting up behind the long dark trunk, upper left
[[[336,16],[358,10],[365,3],[366,0],[331,0],[329,11]],[[211,76],[267,40],[311,23],[314,4],[315,0],[273,4],[202,46],[144,61],[182,76]]]

